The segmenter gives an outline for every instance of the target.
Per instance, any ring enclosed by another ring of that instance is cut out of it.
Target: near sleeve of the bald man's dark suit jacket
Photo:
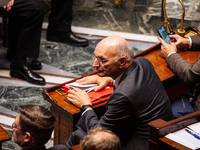
[[[133,107],[130,100],[124,94],[117,92],[109,98],[107,111],[100,119],[93,110],[87,111],[79,119],[77,127],[87,133],[89,129],[100,126],[119,134],[122,131],[120,129],[130,125],[132,119],[134,119]]]

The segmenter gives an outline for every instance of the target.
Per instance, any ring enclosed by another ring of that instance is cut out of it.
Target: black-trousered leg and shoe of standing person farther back
[[[71,31],[73,0],[51,0],[47,40],[71,46],[88,46],[87,39]]]

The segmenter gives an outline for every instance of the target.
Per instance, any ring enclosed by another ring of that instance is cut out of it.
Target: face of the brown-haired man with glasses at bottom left
[[[19,121],[20,121],[19,116],[20,114],[16,117],[15,122],[12,125],[12,129],[14,131],[13,132],[14,142],[17,143],[19,146],[22,146],[25,132],[21,130],[21,127],[19,124]]]

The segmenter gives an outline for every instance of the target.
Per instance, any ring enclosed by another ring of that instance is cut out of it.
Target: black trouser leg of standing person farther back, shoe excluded
[[[47,32],[71,31],[73,0],[51,0],[51,13]]]

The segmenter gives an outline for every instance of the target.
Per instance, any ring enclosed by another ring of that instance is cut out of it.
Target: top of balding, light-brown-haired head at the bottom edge
[[[119,137],[112,131],[97,127],[88,131],[87,135],[81,141],[81,149],[121,150],[121,143]]]

